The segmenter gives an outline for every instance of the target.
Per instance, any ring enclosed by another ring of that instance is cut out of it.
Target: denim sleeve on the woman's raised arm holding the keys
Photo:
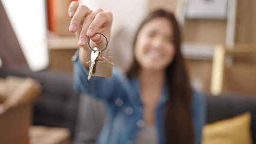
[[[109,100],[115,97],[117,89],[122,89],[122,80],[124,80],[124,74],[113,68],[113,77],[91,77],[87,80],[88,70],[79,61],[79,49],[72,57],[73,61],[73,73],[74,82],[73,86],[75,91],[90,95],[92,97]]]

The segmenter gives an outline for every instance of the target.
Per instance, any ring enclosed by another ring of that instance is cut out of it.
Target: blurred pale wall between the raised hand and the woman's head
[[[132,61],[133,35],[141,21],[148,13],[147,0],[80,0],[81,4],[95,10],[102,8],[113,14],[111,43],[107,56],[124,70]]]

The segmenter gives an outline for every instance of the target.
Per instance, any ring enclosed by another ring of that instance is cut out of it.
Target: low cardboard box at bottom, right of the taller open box
[[[30,144],[70,144],[70,131],[67,128],[31,126]]]

